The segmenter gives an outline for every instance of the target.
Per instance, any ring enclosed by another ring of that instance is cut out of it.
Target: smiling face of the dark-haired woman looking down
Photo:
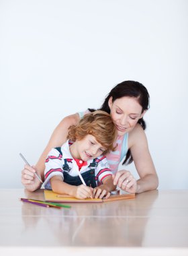
[[[118,135],[124,135],[134,129],[138,119],[144,116],[142,106],[136,98],[122,97],[112,102],[112,97],[109,98],[110,115],[115,124]]]

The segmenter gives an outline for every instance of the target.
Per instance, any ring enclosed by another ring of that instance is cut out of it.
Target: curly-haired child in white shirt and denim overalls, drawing
[[[89,113],[68,131],[66,143],[61,148],[53,148],[46,159],[45,189],[78,199],[109,197],[115,186],[103,155],[115,150],[117,138],[110,115],[101,110]]]

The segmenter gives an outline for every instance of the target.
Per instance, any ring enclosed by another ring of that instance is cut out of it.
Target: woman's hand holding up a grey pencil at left
[[[40,189],[42,185],[34,174],[35,172],[35,166],[29,166],[28,164],[26,164],[21,171],[21,183],[28,189],[28,191]]]

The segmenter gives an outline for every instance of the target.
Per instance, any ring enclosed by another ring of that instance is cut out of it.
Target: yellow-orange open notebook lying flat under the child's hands
[[[44,197],[45,201],[51,201],[51,202],[60,202],[60,203],[102,203],[107,201],[117,201],[117,200],[124,200],[124,199],[132,199],[135,198],[135,194],[124,194],[124,195],[111,195],[107,199],[77,199],[75,197],[71,197],[71,195],[60,195],[57,193],[54,193],[51,190],[44,190]]]

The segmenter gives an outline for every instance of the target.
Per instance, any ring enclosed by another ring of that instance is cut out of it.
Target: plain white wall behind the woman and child
[[[23,187],[19,152],[35,164],[63,117],[133,79],[150,93],[159,189],[187,189],[187,11],[186,0],[0,1],[0,188]]]

